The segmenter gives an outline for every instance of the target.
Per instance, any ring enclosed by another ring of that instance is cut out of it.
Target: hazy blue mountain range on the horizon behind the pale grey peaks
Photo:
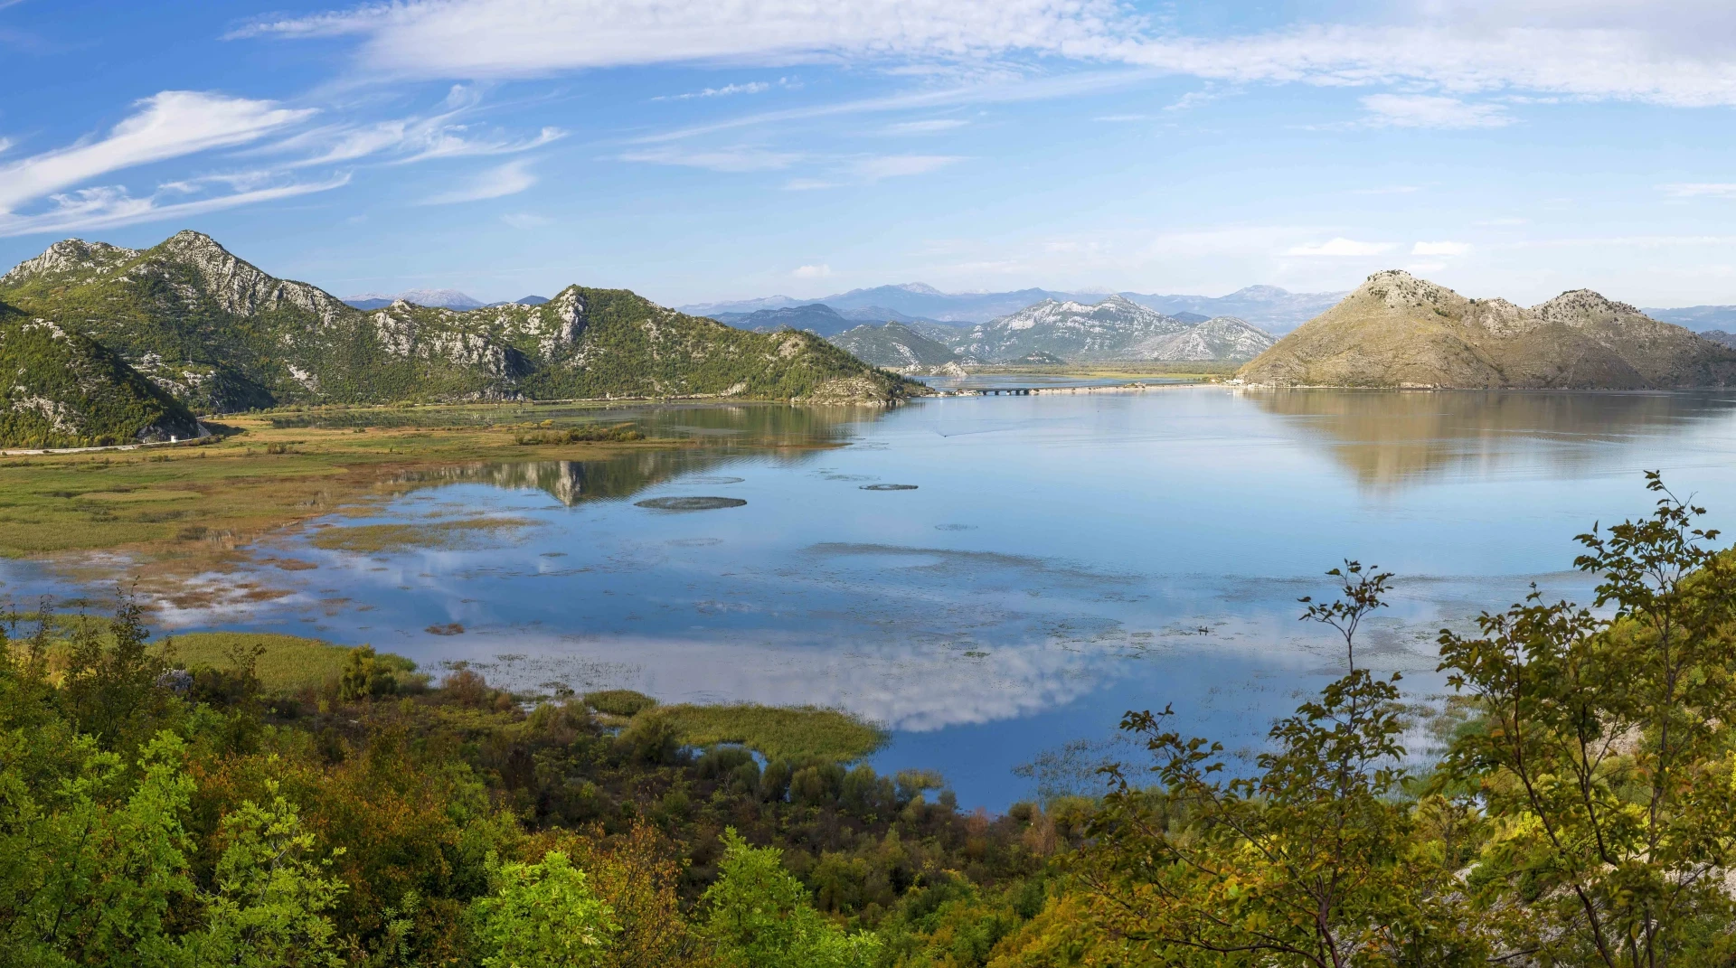
[[[1068,293],[1042,288],[998,293],[943,293],[941,290],[924,283],[906,283],[901,286],[851,290],[847,293],[837,293],[818,300],[797,300],[778,295],[738,302],[693,304],[681,307],[681,311],[720,319],[722,316],[733,314],[746,316],[769,309],[823,304],[837,311],[845,319],[972,324],[988,323],[990,319],[1000,316],[1010,316],[1043,300],[1097,304],[1109,295],[1120,295],[1128,302],[1135,302],[1186,323],[1203,323],[1215,316],[1234,316],[1274,333],[1297,328],[1307,319],[1319,316],[1344,297],[1344,293],[1292,293],[1279,290],[1278,286],[1248,286],[1226,297],[1151,295],[1132,291]]]

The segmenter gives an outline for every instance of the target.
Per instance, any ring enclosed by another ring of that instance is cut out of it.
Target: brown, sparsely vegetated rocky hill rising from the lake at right
[[[1278,387],[1727,387],[1736,385],[1736,352],[1590,290],[1522,309],[1385,271],[1238,378]]]

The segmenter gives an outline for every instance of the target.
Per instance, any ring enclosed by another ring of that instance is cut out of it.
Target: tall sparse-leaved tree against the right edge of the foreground
[[[1703,508],[1646,481],[1651,517],[1578,538],[1613,611],[1533,588],[1484,612],[1481,638],[1441,633],[1448,682],[1486,720],[1446,762],[1495,824],[1472,883],[1521,914],[1507,944],[1543,965],[1731,954],[1736,562]]]

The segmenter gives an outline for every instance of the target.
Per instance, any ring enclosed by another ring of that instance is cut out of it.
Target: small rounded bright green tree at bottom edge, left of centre
[[[585,873],[550,850],[540,864],[502,864],[495,892],[470,902],[483,968],[599,965],[620,930]]]

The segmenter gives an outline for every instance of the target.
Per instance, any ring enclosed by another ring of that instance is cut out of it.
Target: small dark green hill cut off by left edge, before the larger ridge
[[[80,448],[194,437],[184,404],[118,356],[0,304],[0,446]]]

